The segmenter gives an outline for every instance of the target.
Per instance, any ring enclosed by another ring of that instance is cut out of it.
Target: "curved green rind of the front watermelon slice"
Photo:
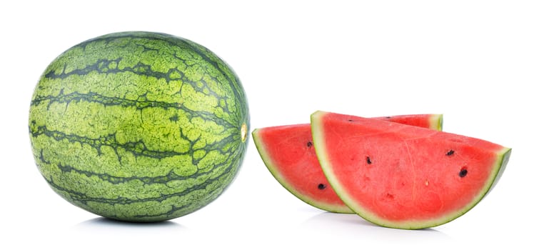
[[[358,216],[361,216],[363,219],[366,219],[366,221],[369,221],[373,224],[377,224],[379,226],[395,229],[425,229],[440,226],[450,221],[453,221],[454,219],[457,219],[458,217],[467,213],[470,209],[473,209],[473,207],[478,204],[491,189],[493,189],[493,187],[500,179],[500,176],[503,175],[506,164],[508,163],[508,159],[510,159],[510,148],[504,147],[500,151],[495,152],[498,157],[496,158],[495,163],[493,164],[490,178],[488,178],[483,188],[480,189],[480,193],[475,196],[469,204],[464,206],[463,209],[450,214],[445,214],[444,216],[441,216],[436,219],[428,219],[424,221],[401,221],[401,223],[396,223],[395,221],[381,219],[380,217],[374,215],[371,211],[363,209],[363,207],[358,204],[357,201],[353,201],[353,199],[350,199],[348,197],[348,191],[346,191],[343,185],[341,185],[340,182],[336,179],[335,174],[333,174],[330,160],[327,156],[328,154],[326,154],[326,148],[324,148],[325,144],[323,143],[323,141],[325,137],[323,136],[323,131],[321,130],[321,123],[318,122],[321,120],[321,116],[325,114],[328,114],[328,112],[316,111],[311,115],[311,131],[313,135],[313,144],[316,149],[316,154],[318,156],[319,163],[321,164],[321,168],[323,169],[323,172],[326,175],[326,179],[328,180],[336,194],[338,194],[341,200],[348,207],[350,207],[355,214],[358,214]]]

